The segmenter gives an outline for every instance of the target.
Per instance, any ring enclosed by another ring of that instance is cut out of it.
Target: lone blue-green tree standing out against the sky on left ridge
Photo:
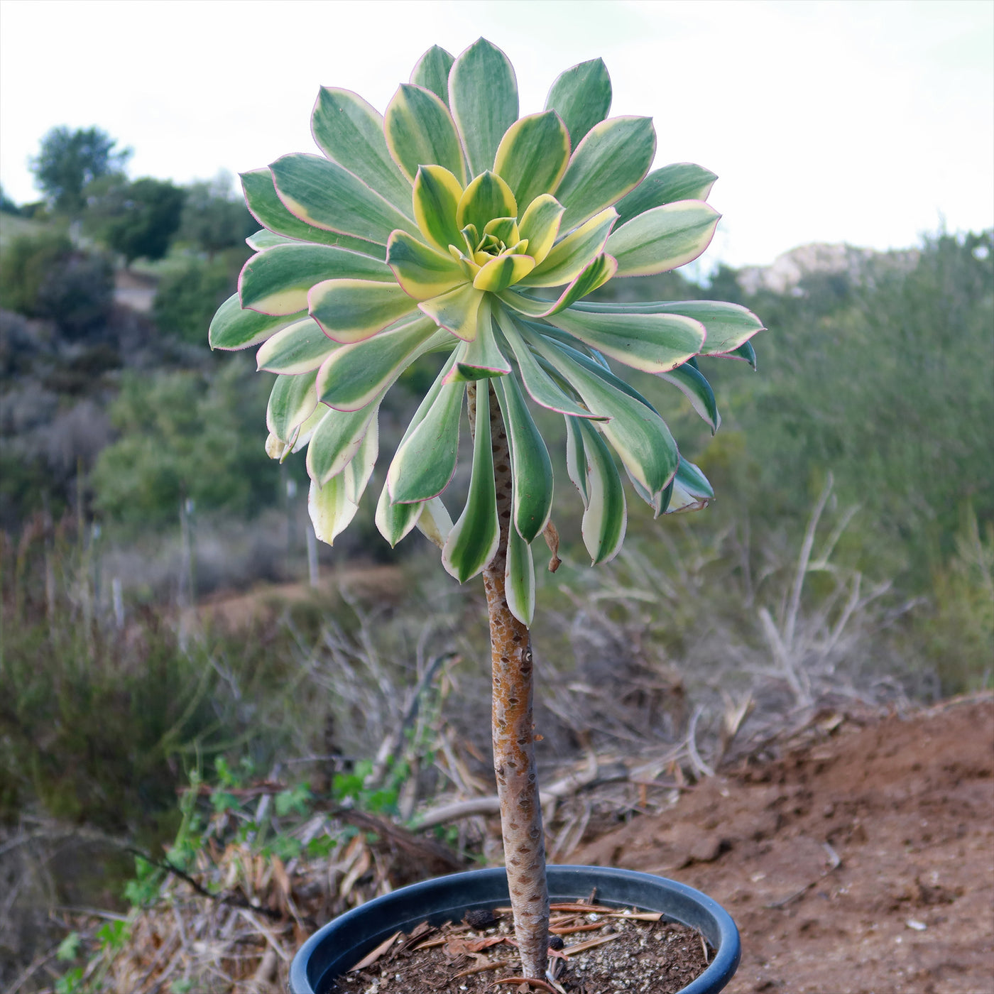
[[[38,156],[31,160],[35,183],[52,206],[66,214],[83,210],[83,189],[93,180],[120,172],[131,156],[129,148],[115,149],[116,139],[98,127],[70,130],[65,124],[42,138]]]

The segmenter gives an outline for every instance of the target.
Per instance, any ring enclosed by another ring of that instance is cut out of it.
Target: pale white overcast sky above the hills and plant
[[[314,151],[319,85],[383,110],[425,49],[480,35],[522,113],[601,56],[612,113],[655,118],[656,165],[718,173],[712,263],[994,224],[990,0],[0,0],[0,183],[38,199],[27,160],[58,124],[178,183]]]

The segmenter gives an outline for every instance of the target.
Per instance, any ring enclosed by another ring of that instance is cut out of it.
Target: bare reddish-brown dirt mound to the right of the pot
[[[847,722],[570,861],[721,902],[743,936],[729,994],[990,994],[994,701]]]

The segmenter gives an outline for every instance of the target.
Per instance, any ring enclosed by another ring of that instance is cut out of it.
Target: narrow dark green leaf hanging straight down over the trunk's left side
[[[494,558],[500,542],[487,381],[480,380],[476,389],[476,433],[469,493],[441,551],[442,566],[460,583],[483,570]]]

